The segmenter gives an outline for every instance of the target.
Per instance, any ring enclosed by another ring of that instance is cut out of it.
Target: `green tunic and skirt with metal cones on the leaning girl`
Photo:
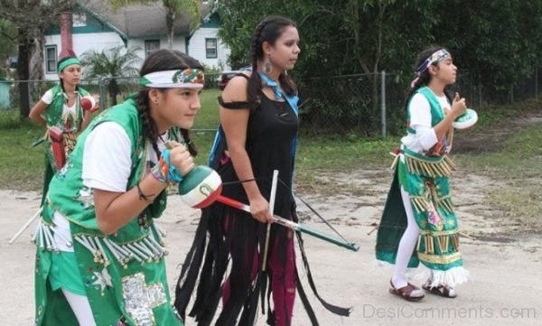
[[[132,144],[132,172],[126,191],[133,188],[145,172],[146,142],[142,136],[142,121],[135,100],[129,98],[92,121],[79,136],[64,168],[51,181],[43,207],[42,231],[35,239],[38,246],[36,324],[77,324],[61,292],[51,291],[48,282],[52,256],[58,255],[48,241],[54,234],[51,218],[56,210],[70,221],[77,265],[98,325],[182,325],[168,291],[163,234],[154,225],[154,219],[164,211],[166,191],[114,235],[107,236],[98,228],[93,191],[83,185],[81,167],[89,132],[105,121],[122,126]],[[171,132],[170,135],[177,134]]]

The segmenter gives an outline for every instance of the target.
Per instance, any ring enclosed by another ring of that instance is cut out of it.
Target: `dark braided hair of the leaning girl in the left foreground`
[[[182,51],[161,49],[153,51],[151,54],[149,54],[143,63],[140,76],[145,76],[146,74],[154,71],[185,70],[188,68],[203,70],[203,67],[199,61],[196,61],[192,57],[182,53]],[[135,102],[137,103],[137,110],[143,122],[143,136],[153,145],[156,156],[160,157],[161,152],[158,149],[157,144],[160,135],[158,132],[158,126],[156,126],[156,122],[151,116],[151,107],[149,106],[149,89],[150,88],[140,89],[137,97],[135,98]],[[165,92],[168,88],[157,89],[161,92]],[[192,154],[192,156],[196,156],[198,154],[198,150],[192,143],[188,130],[183,128],[180,129],[182,138],[188,147],[188,151],[190,154]]]

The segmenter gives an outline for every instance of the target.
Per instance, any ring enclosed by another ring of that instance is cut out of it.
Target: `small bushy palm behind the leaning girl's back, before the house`
[[[141,61],[136,51],[140,48],[128,48],[123,53],[124,46],[117,46],[102,51],[89,50],[81,55],[81,64],[85,68],[86,78],[107,78],[107,92],[111,98],[111,105],[117,104],[117,95],[120,93],[117,79],[135,77],[138,74],[135,65]]]

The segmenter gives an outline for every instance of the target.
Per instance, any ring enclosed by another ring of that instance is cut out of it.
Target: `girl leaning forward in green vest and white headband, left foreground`
[[[194,167],[204,75],[169,50],[140,74],[139,92],[96,116],[51,180],[34,238],[36,325],[182,325],[155,219]]]

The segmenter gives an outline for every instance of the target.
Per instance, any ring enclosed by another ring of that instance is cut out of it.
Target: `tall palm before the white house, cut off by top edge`
[[[113,8],[118,9],[125,5],[149,5],[155,0],[110,0]],[[165,11],[165,25],[167,27],[167,46],[173,50],[173,23],[180,14],[188,14],[190,27],[194,28],[201,19],[201,0],[162,0]]]

